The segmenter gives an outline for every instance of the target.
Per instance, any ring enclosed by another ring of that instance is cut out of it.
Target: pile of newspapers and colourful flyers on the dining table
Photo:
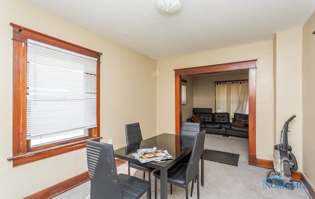
[[[136,153],[132,153],[132,156],[142,164],[151,161],[158,162],[173,159],[173,156],[171,156],[167,150],[157,148],[138,149]]]

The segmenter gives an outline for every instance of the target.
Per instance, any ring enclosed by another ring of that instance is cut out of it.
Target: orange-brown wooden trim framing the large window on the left
[[[89,50],[84,47],[71,44],[69,42],[51,37],[29,28],[10,23],[13,27],[13,128],[12,128],[12,157],[13,167],[29,162],[62,154],[86,147],[86,140],[98,140],[99,137],[99,72],[100,72],[100,52]],[[31,151],[26,137],[26,60],[27,60],[27,39],[32,39],[45,44],[49,44],[65,50],[71,50],[80,54],[85,54],[97,59],[96,64],[96,124],[97,127],[89,129],[86,139],[73,139],[58,145],[46,145]]]

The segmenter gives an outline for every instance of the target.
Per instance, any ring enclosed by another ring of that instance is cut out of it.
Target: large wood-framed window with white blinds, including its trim
[[[13,166],[99,140],[101,53],[13,27]]]

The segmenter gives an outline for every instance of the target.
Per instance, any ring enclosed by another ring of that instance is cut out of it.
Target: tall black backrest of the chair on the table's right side
[[[205,137],[206,130],[202,130],[201,132],[195,134],[191,155],[186,170],[186,183],[189,183],[199,172],[199,160],[203,152]]]

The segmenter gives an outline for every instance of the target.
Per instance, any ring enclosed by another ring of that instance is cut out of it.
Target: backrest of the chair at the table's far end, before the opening
[[[200,132],[199,123],[183,122],[181,127],[181,141],[184,148],[191,148],[194,143],[196,133]]]

